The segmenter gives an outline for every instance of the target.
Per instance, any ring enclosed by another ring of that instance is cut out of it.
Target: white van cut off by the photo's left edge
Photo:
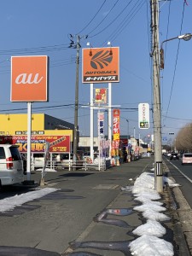
[[[23,161],[19,146],[0,144],[0,184],[11,185],[24,181]]]

